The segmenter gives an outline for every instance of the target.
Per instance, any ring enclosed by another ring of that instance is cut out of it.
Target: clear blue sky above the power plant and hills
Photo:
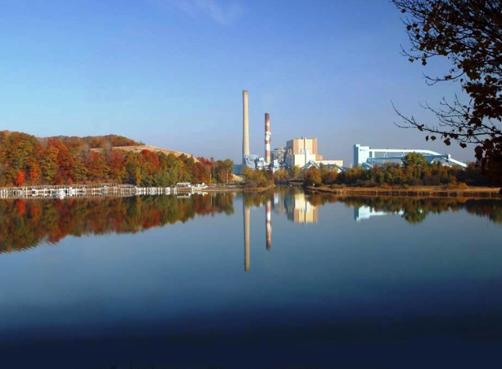
[[[401,16],[387,0],[2,0],[0,129],[240,162],[247,89],[254,154],[269,112],[273,148],[305,136],[345,165],[354,143],[473,161],[472,147],[395,125],[392,103],[434,124],[420,102],[461,93],[425,83],[446,61],[400,55]]]

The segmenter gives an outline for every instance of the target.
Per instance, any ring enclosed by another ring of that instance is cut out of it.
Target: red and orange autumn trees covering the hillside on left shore
[[[57,136],[38,139],[0,132],[0,186],[114,182],[168,186],[176,182],[225,183],[234,162],[163,152],[132,152],[117,146],[142,143],[123,136]]]

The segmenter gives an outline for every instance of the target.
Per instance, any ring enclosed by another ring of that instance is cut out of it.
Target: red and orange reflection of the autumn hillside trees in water
[[[137,233],[216,213],[234,213],[232,194],[2,200],[0,253],[56,244],[68,235]]]

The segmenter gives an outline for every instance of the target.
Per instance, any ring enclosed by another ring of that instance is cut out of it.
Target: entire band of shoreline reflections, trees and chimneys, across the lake
[[[502,223],[502,201],[465,198],[340,197],[279,188],[260,194],[139,196],[130,198],[70,198],[0,201],[0,253],[21,251],[38,244],[56,244],[73,235],[137,233],[153,227],[218,213],[233,214],[234,198],[243,199],[245,271],[250,270],[251,208],[264,207],[265,247],[272,248],[273,214],[298,224],[319,222],[322,206],[342,203],[353,207],[355,221],[395,214],[420,223],[429,214],[465,211]]]

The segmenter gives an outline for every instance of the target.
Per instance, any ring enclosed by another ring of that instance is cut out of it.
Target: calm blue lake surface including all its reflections
[[[499,368],[502,201],[0,201],[0,368]]]

